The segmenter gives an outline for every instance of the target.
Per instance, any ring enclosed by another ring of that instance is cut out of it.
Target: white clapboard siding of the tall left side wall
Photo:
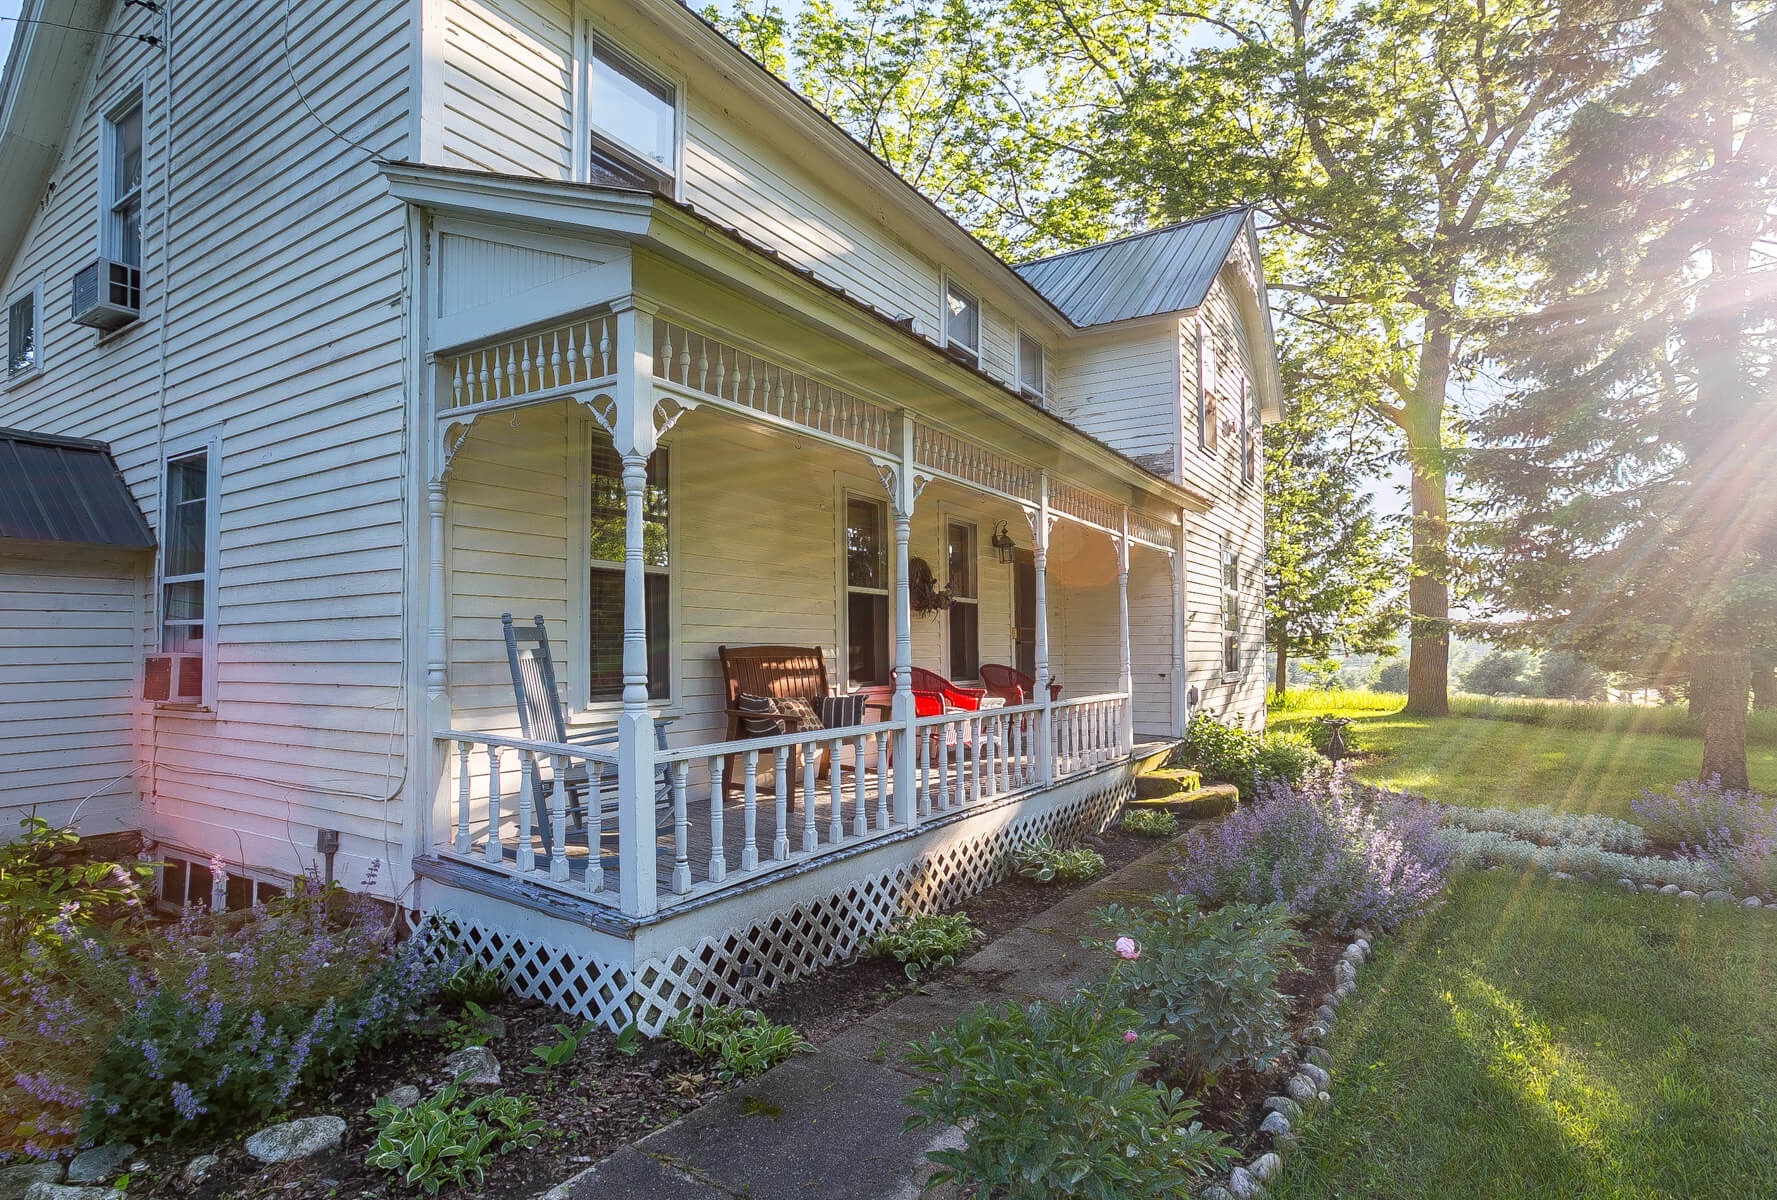
[[[316,827],[339,828],[350,882],[370,859],[405,859],[391,802],[412,652],[405,217],[371,158],[409,156],[410,18],[402,0],[323,0],[293,23],[288,59],[275,5],[183,4],[165,52],[107,37],[7,272],[9,290],[41,277],[53,302],[46,370],[0,393],[0,425],[108,441],[156,528],[162,453],[220,441],[217,711],[140,718],[135,738],[156,757],[151,836],[295,871]],[[144,20],[110,16],[117,32]],[[101,338],[68,322],[66,288],[98,252],[100,117],[133,84],[146,85],[144,309]]]

